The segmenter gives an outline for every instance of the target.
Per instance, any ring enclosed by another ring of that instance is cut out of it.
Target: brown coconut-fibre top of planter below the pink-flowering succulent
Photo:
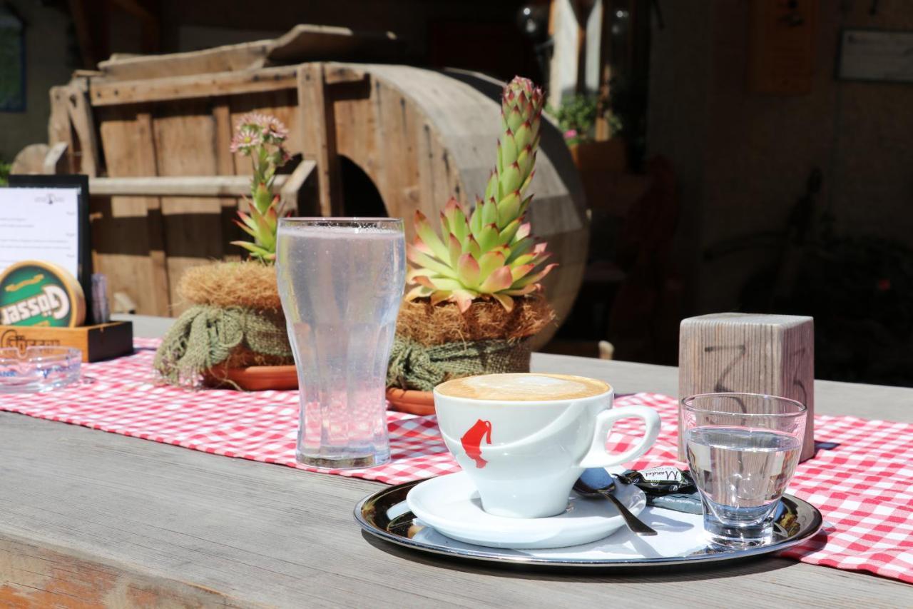
[[[263,262],[215,262],[184,271],[177,294],[194,305],[282,310],[276,267]]]

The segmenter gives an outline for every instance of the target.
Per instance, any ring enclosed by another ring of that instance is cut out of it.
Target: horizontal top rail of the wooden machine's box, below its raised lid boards
[[[148,80],[93,80],[93,106],[164,102],[280,91],[296,87],[296,68],[244,69],[234,72],[193,74]]]

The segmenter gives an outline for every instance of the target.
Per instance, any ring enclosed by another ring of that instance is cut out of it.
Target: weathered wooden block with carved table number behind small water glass
[[[808,408],[800,461],[814,455],[814,321],[800,315],[719,313],[682,320],[678,341],[678,459],[687,461],[681,401],[744,391]]]

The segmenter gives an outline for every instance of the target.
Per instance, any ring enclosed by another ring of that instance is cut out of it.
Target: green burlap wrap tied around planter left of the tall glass
[[[291,358],[285,317],[279,311],[194,305],[177,318],[155,352],[154,367],[173,385],[199,382],[236,347]]]

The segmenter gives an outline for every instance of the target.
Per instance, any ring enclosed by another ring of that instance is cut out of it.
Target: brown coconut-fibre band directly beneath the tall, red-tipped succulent
[[[470,340],[519,340],[538,334],[554,319],[554,310],[541,294],[516,298],[509,313],[493,300],[477,300],[466,313],[460,313],[454,303],[431,305],[425,298],[404,301],[396,318],[396,333],[426,346]]]

